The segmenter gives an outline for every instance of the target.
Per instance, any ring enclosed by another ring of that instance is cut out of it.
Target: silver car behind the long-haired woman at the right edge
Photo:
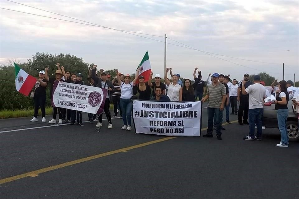
[[[299,127],[298,127],[298,113],[292,107],[292,100],[294,93],[290,94],[289,102],[287,107],[289,109],[289,115],[287,116],[287,136],[289,141],[299,141]],[[263,105],[263,126],[269,128],[278,128],[277,112],[275,111],[275,106]]]

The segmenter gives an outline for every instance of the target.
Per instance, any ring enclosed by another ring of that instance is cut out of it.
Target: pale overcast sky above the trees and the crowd
[[[265,71],[282,79],[299,79],[299,1],[29,1],[33,7],[121,30],[167,34],[193,48],[221,55],[280,63],[264,64],[218,56],[167,44],[167,66],[192,78],[195,67],[208,73]],[[66,17],[0,0],[0,7],[75,21]],[[164,42],[162,37],[141,35]],[[172,40],[169,43],[178,44]],[[182,44],[178,44],[182,45]],[[0,63],[25,62],[36,52],[70,53],[104,69],[133,73],[148,50],[152,71],[163,74],[164,43],[115,30],[76,24],[0,9]],[[253,68],[253,69],[251,69]]]

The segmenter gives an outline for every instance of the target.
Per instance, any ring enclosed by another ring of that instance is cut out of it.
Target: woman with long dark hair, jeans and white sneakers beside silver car
[[[276,96],[275,110],[277,112],[278,128],[281,134],[281,142],[276,146],[288,147],[289,138],[287,136],[287,103],[289,101],[289,93],[287,92],[287,82],[282,80],[278,83],[280,92]]]

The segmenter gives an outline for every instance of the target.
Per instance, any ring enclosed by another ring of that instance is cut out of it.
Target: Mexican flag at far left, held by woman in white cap
[[[36,83],[36,78],[28,75],[28,73],[23,71],[15,62],[14,65],[16,72],[16,89],[21,94],[28,96]]]

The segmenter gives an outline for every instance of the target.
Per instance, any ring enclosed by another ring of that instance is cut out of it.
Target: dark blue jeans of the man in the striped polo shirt
[[[209,108],[208,107],[208,130],[207,134],[213,134],[213,120],[216,117],[216,135],[221,135],[221,120],[222,112],[219,108]]]

